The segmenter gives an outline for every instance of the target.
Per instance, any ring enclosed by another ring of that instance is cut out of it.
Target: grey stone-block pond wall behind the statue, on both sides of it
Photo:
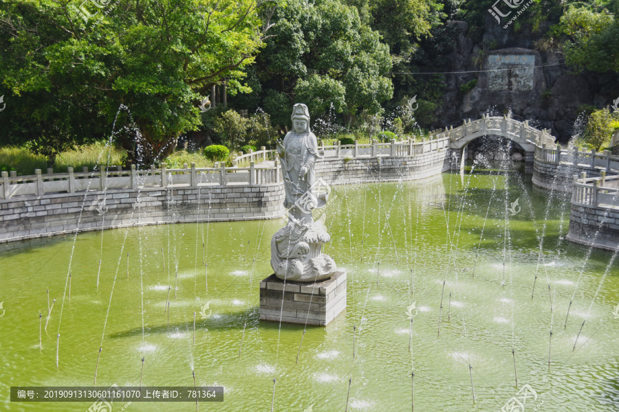
[[[434,150],[415,157],[319,159],[317,177],[333,185],[423,179],[450,169],[448,153]],[[112,229],[277,218],[285,213],[284,196],[281,182],[16,196],[0,200],[0,242],[91,231],[102,225]]]

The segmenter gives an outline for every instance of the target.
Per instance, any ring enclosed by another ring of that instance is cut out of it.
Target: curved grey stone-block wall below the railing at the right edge
[[[619,248],[619,210],[572,203],[567,240],[616,251]]]

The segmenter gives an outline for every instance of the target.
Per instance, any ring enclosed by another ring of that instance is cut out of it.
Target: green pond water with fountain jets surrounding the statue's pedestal
[[[100,347],[100,387],[139,386],[142,357],[144,386],[193,386],[192,370],[198,386],[223,386],[224,402],[199,411],[411,411],[411,371],[417,412],[500,411],[524,385],[536,392],[525,411],[619,410],[619,268],[612,253],[564,239],[567,195],[489,170],[332,195],[324,251],[347,271],[347,308],[308,326],[302,345],[303,325],[259,321],[283,219],[0,245],[0,410],[86,411],[91,402],[10,402],[10,387],[93,386]]]

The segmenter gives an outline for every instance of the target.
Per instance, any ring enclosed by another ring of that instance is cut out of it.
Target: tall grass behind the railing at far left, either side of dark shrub
[[[69,150],[56,157],[54,172],[65,173],[68,167],[80,172],[87,167],[92,170],[97,164],[120,165],[125,151],[114,147],[106,147],[104,143],[95,143],[75,150]],[[97,163],[97,160],[99,162]],[[0,148],[0,163],[10,165],[17,174],[34,174],[35,169],[47,170],[44,156],[35,155],[30,150],[21,147]]]

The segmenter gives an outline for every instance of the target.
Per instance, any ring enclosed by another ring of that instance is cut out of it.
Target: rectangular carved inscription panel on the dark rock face
[[[488,90],[529,91],[533,88],[534,54],[488,55]]]

